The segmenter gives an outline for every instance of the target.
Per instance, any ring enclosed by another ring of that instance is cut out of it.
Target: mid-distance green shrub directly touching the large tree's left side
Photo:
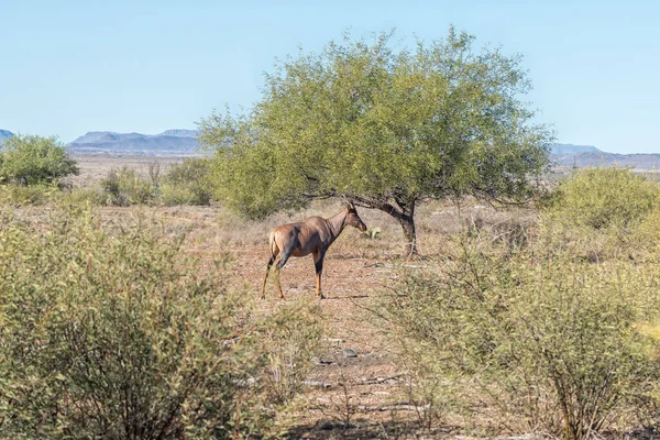
[[[163,205],[209,205],[209,168],[210,162],[206,158],[187,158],[173,165],[161,183],[160,197]]]

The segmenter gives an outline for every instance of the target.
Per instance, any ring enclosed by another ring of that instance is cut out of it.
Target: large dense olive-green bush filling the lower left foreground
[[[155,230],[110,234],[86,210],[35,229],[0,219],[3,438],[272,435],[309,367],[315,311],[255,319],[222,262],[201,273]]]

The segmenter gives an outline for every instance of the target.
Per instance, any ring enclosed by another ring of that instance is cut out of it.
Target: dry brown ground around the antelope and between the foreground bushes
[[[154,162],[165,168],[179,161],[100,155],[76,160],[81,170],[76,185],[89,185],[113,167],[125,165],[146,173]],[[280,213],[262,222],[242,221],[220,207],[101,208],[101,211],[107,221],[130,221],[141,213],[162,222],[166,231],[187,231],[186,250],[200,256],[208,270],[212,270],[213,258],[229,253],[232,285],[256,300],[268,260],[270,230],[311,215],[329,217],[339,209],[339,202],[319,202],[305,212]],[[490,221],[510,216],[495,213],[485,206],[464,207],[460,217],[450,205],[420,207],[417,228],[422,253],[441,253],[444,237],[455,233],[465,222],[479,221],[486,212]],[[316,298],[311,257],[290,258],[282,272],[286,300],[317,301],[326,317],[326,349],[308,378],[293,438],[417,438],[415,406],[407,397],[402,372],[394,364],[388,341],[378,332],[370,308],[375,296],[396,283],[404,266],[415,268],[427,263],[402,258],[403,234],[391,217],[366,209],[360,215],[369,227],[381,228],[381,238],[364,238],[355,229],[344,231],[326,257],[323,290],[328,299]],[[267,298],[257,301],[257,307],[267,314],[280,304],[270,279]],[[345,356],[343,350],[349,349],[356,356]],[[459,433],[460,430],[444,427],[437,436]]]

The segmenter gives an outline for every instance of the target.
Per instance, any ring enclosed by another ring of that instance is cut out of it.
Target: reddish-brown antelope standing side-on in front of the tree
[[[321,274],[323,273],[323,258],[330,244],[337,240],[346,226],[358,228],[360,231],[366,231],[366,226],[362,222],[355,210],[355,206],[350,204],[345,209],[323,219],[321,217],[310,217],[298,223],[282,224],[271,232],[271,260],[266,267],[266,276],[262,287],[262,299],[266,297],[266,280],[275,258],[279,255],[279,261],[275,265],[275,286],[279,292],[279,298],[284,299],[282,285],[279,284],[279,271],[286,264],[289,256],[306,256],[311,254],[316,267],[317,295],[320,299],[326,298],[321,293]]]

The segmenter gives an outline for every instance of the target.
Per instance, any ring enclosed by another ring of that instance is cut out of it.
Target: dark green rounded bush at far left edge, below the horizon
[[[78,174],[76,161],[57,138],[16,134],[0,148],[0,183],[48,184],[70,174]]]

